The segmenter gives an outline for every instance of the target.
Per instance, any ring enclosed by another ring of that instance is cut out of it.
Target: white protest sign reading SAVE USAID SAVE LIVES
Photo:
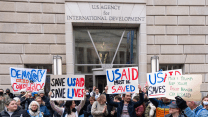
[[[52,100],[84,100],[84,75],[51,75]]]

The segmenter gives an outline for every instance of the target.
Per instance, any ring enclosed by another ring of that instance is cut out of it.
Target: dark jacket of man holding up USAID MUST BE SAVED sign
[[[113,102],[110,99],[109,94],[106,94],[106,98],[107,98],[107,103],[108,104],[110,104],[111,106],[117,107],[117,117],[121,117],[121,114],[122,114],[122,111],[123,111],[124,101],[122,100],[121,102]],[[137,108],[138,106],[143,104],[143,102],[144,102],[143,93],[139,93],[139,98],[140,98],[140,100],[138,102],[133,102],[131,100],[128,104],[128,113],[129,113],[130,117],[136,117],[135,108]]]

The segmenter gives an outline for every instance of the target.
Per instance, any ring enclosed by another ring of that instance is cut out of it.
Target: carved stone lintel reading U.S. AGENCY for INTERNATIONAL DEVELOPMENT
[[[117,3],[66,3],[66,22],[146,23],[146,6]]]

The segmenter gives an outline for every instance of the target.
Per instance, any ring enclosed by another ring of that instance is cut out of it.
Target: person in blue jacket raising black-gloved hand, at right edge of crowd
[[[179,96],[176,97],[176,103],[188,117],[208,117],[208,96],[203,97],[201,105],[193,111],[188,107],[186,101]]]

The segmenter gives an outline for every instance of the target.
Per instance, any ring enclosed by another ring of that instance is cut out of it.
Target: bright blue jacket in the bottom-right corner
[[[203,108],[202,105],[198,106],[193,111],[187,107],[184,112],[188,117],[208,117],[208,110]]]

